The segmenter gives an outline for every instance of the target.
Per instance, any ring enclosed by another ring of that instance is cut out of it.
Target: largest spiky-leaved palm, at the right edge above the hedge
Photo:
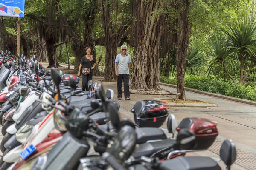
[[[255,18],[253,20],[248,16],[244,16],[236,23],[228,26],[229,31],[224,31],[224,33],[230,37],[229,48],[239,54],[240,58],[240,77],[239,84],[243,85],[245,80],[250,74],[253,67],[256,66],[253,60],[256,57],[256,24]],[[253,59],[253,60],[252,60]],[[250,62],[250,64],[247,63]],[[244,65],[248,66],[247,74],[244,75]],[[248,82],[250,83],[250,82]],[[247,85],[248,85],[247,83]]]

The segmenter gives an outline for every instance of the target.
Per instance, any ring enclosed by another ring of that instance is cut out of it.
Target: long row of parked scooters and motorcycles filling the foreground
[[[134,122],[119,118],[114,92],[55,68],[45,71],[33,56],[18,60],[1,53],[0,170],[221,170],[207,150],[218,136],[217,122],[185,118],[177,125],[164,102],[142,100],[131,109]],[[161,128],[166,122],[168,133]],[[172,136],[172,137],[171,137]],[[227,139],[221,160],[230,170],[235,144]]]

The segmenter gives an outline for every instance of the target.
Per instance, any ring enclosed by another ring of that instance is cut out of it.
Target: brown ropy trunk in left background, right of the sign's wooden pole
[[[44,39],[39,38],[34,42],[32,56],[33,55],[35,55],[38,62],[48,62],[47,45]]]

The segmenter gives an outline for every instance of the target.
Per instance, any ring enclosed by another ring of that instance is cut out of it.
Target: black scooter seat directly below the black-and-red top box
[[[137,144],[142,144],[150,140],[167,139],[162,129],[154,127],[142,127],[135,130],[137,133]]]

